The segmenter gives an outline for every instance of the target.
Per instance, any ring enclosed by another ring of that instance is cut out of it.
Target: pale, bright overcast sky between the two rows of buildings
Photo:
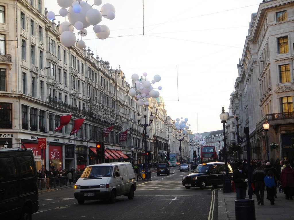
[[[97,38],[90,26],[82,38],[94,57],[120,66],[130,84],[134,73],[146,72],[149,81],[160,75],[153,87],[162,87],[168,116],[188,118],[192,133],[223,129],[219,114],[223,106],[228,112],[251,14],[262,0],[102,0],[93,8],[106,3],[116,10],[113,20],[99,23],[109,37]],[[45,0],[45,7],[59,15],[57,1]]]

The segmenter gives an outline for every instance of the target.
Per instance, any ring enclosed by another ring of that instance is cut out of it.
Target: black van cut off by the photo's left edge
[[[1,219],[31,219],[39,209],[37,178],[31,149],[0,149]]]

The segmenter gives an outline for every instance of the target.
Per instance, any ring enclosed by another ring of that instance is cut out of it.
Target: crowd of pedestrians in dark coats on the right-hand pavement
[[[293,200],[294,196],[294,161],[288,160],[274,161],[251,160],[250,170],[248,170],[247,161],[232,162],[234,167],[233,181],[236,188],[237,199],[245,199],[246,189],[248,187],[248,176],[251,176],[251,187],[256,195],[257,204],[264,205],[264,194],[271,205],[275,204],[277,198],[277,187],[280,192],[284,192],[285,199]],[[290,165],[292,164],[292,166]]]

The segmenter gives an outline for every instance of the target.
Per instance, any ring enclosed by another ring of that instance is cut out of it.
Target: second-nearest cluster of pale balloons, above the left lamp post
[[[143,76],[147,76],[147,73],[144,72]],[[151,84],[155,84],[156,82],[159,82],[161,80],[160,75],[155,75],[152,79],[152,81],[148,81],[146,79],[139,79],[139,75],[134,73],[132,75],[132,80],[136,81],[136,89],[131,88],[129,90],[129,95],[131,97],[136,96],[138,101],[137,104],[138,106],[143,106],[143,105],[149,105],[148,98],[158,98],[159,97],[159,92],[156,90],[153,90],[153,86]],[[161,90],[162,87],[158,86],[158,90]]]

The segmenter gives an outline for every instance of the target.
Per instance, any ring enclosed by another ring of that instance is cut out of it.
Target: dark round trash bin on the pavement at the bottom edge
[[[235,200],[235,216],[238,220],[255,220],[254,200]]]

